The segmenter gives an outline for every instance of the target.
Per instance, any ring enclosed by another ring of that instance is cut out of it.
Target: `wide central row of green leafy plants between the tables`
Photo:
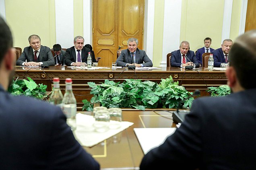
[[[105,80],[99,85],[93,82],[88,85],[92,88],[90,93],[93,97],[91,101],[83,100],[83,110],[87,111],[92,111],[93,103],[97,102],[107,108],[176,108],[180,101],[192,95],[183,86],[179,86],[178,82],[174,82],[171,76],[161,79],[160,84],[125,79],[123,83]],[[190,107],[193,100],[193,97],[185,100],[181,103],[182,107]]]

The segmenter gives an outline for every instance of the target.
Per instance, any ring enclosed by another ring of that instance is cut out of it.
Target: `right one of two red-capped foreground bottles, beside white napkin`
[[[66,93],[62,100],[63,112],[67,118],[67,124],[71,127],[71,130],[76,130],[76,98],[72,91],[72,79],[67,78],[66,81]]]

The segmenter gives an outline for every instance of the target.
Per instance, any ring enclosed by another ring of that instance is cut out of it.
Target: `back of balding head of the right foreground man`
[[[244,89],[256,88],[256,30],[239,36],[229,52],[229,63]]]

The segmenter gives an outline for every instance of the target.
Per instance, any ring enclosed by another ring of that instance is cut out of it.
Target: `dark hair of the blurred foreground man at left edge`
[[[0,63],[7,50],[12,47],[12,33],[6,22],[0,17]]]

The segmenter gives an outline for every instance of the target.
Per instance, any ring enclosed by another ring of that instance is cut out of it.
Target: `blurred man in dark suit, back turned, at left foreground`
[[[2,18],[0,28],[0,169],[99,170],[75,140],[60,107],[6,91],[16,57],[12,34]]]

